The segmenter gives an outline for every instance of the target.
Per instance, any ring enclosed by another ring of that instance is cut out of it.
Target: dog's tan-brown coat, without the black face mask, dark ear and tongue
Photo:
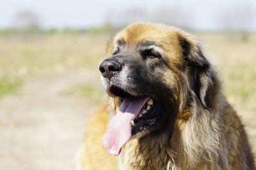
[[[163,81],[172,87],[175,100],[179,101],[173,124],[161,133],[130,139],[118,157],[108,155],[102,146],[102,136],[109,117],[120,106],[118,99],[109,97],[109,108],[104,106],[88,121],[77,155],[77,169],[255,169],[244,126],[223,96],[211,67],[200,74],[199,96],[192,92],[188,75],[193,68],[185,66],[182,43],[189,44],[189,53],[194,57],[189,60],[200,63],[197,56],[202,52],[195,38],[167,25],[132,24],[109,43],[108,55],[117,39],[136,45],[147,38],[161,45],[172,67],[172,72],[164,73]],[[209,97],[211,109],[207,109],[205,96]]]

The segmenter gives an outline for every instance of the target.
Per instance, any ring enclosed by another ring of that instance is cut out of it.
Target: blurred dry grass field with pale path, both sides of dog
[[[195,34],[256,153],[256,35]],[[74,169],[86,118],[104,101],[98,66],[108,38],[0,35],[0,169]]]

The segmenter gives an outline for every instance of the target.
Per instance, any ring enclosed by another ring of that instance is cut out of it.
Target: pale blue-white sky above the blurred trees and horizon
[[[1,0],[0,6],[0,28],[13,26],[13,18],[18,11],[31,10],[40,16],[40,22],[45,28],[71,27],[86,28],[99,26],[106,22],[106,16],[111,11],[118,12],[128,8],[141,8],[150,16],[159,8],[175,8],[179,6],[182,11],[189,11],[191,18],[186,20],[191,27],[198,30],[220,29],[220,18],[225,17],[225,11],[236,6],[247,6],[251,9],[248,27],[256,31],[256,1],[255,0]],[[117,17],[118,16],[113,16]],[[193,18],[193,22],[191,22]],[[131,18],[132,19],[132,18]],[[245,18],[246,19],[246,18]],[[122,16],[120,17],[122,20]],[[236,22],[236,18],[230,19]],[[190,22],[189,22],[190,21]],[[225,22],[225,21],[224,21]]]

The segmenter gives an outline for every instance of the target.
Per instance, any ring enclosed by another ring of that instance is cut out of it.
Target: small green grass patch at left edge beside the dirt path
[[[15,76],[3,76],[0,78],[0,97],[8,94],[13,94],[19,87],[21,87],[23,81],[19,77]]]

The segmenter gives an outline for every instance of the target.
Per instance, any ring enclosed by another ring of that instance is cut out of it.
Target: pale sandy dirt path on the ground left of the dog
[[[44,76],[26,81],[19,94],[0,99],[0,169],[74,169],[92,103],[61,97],[61,90],[94,74]]]

